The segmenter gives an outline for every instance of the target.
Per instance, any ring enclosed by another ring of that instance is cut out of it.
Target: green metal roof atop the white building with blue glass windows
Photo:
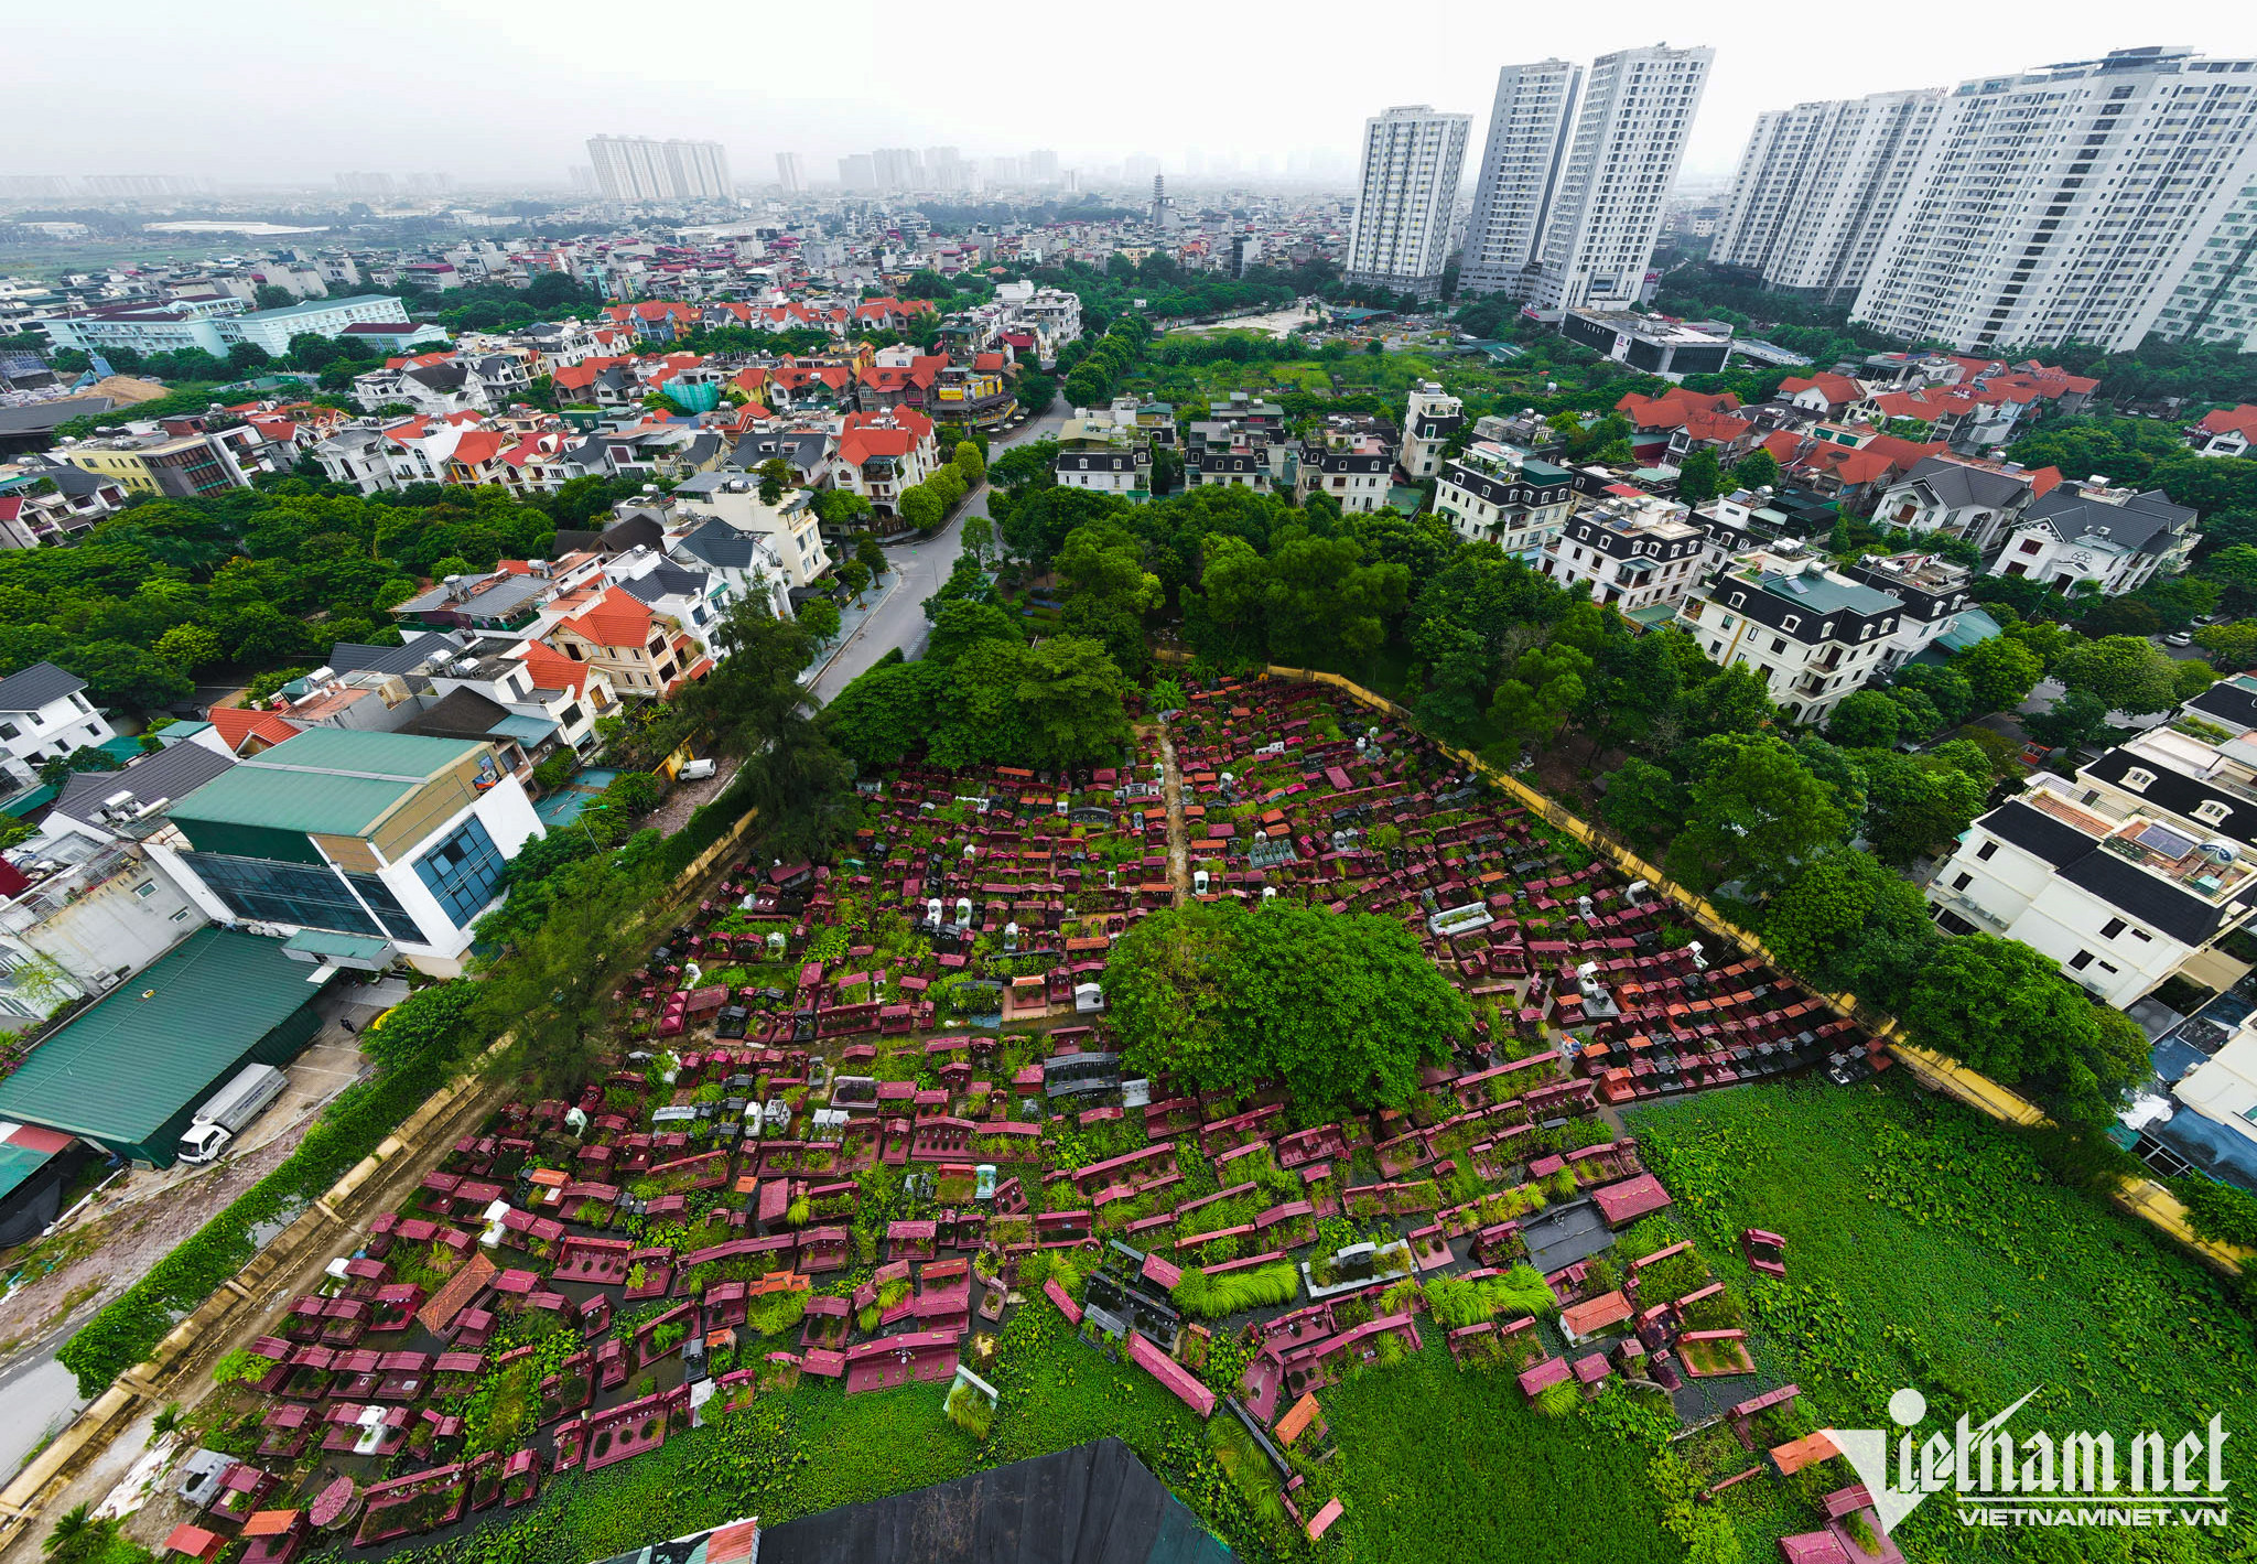
[[[474,738],[314,727],[230,765],[169,812],[178,821],[357,837],[478,747]]]

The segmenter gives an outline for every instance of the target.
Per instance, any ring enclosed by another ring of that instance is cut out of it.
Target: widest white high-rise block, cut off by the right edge
[[[1961,81],[1851,318],[1968,352],[2137,348],[2257,176],[2252,108],[2257,63],[2192,50]]]

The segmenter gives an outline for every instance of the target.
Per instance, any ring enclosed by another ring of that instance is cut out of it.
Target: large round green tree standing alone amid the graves
[[[1113,948],[1106,1009],[1128,1063],[1201,1090],[1280,1079],[1307,1110],[1402,1106],[1472,1013],[1397,919],[1189,903]]]

